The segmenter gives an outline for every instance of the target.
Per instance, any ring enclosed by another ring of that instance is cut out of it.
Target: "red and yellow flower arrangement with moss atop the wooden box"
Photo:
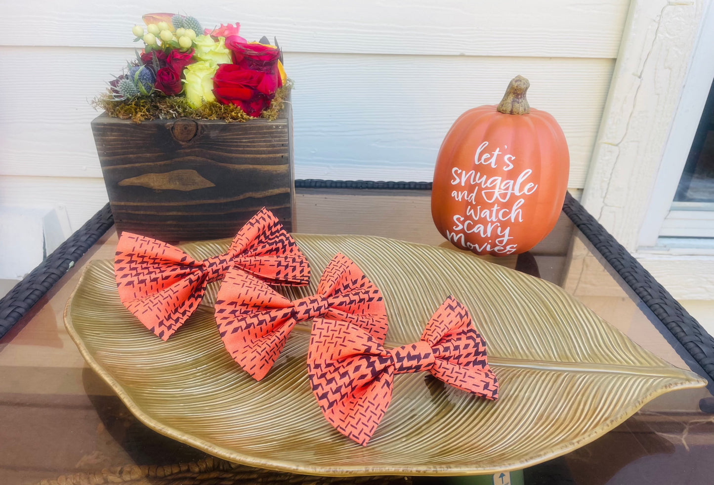
[[[275,119],[290,83],[277,42],[248,42],[240,24],[203,29],[198,19],[146,14],[134,26],[144,49],[95,98],[109,116],[137,123],[156,118]]]

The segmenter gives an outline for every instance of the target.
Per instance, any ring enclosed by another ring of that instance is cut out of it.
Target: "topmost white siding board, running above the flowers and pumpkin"
[[[6,1],[3,45],[131,47],[147,9],[206,26],[239,21],[286,51],[471,56],[617,56],[628,0]]]

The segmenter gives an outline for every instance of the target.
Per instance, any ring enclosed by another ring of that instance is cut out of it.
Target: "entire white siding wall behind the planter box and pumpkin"
[[[62,205],[72,230],[106,203],[89,100],[134,57],[131,26],[180,11],[278,38],[293,91],[296,177],[431,180],[466,109],[517,74],[570,146],[583,188],[629,0],[234,2],[25,0],[0,17],[0,205]]]

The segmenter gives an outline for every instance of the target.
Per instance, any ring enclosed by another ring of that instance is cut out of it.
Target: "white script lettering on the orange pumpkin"
[[[505,172],[513,168],[513,160],[516,160],[516,157],[506,152],[508,146],[503,146],[503,150],[496,148],[491,152],[487,152],[487,148],[488,141],[478,146],[473,158],[474,165],[501,168]],[[504,180],[500,175],[481,173],[478,168],[462,170],[453,167],[451,185],[458,185],[459,188],[451,192],[451,197],[454,200],[466,201],[469,205],[466,206],[466,215],[453,215],[453,232],[446,231],[448,240],[478,252],[516,252],[518,244],[508,244],[508,241],[513,239],[510,235],[511,224],[523,222],[521,205],[526,202],[526,196],[538,188],[538,184],[527,180],[532,174],[533,170],[527,168],[517,177],[508,176]],[[488,242],[468,242],[468,234],[476,234],[483,240],[488,238]]]

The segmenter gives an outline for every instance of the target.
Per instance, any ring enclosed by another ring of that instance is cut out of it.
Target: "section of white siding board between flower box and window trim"
[[[563,127],[568,186],[583,187],[613,65],[578,58],[293,56],[296,177],[431,181],[456,118],[497,104],[521,74],[531,81],[531,106]]]

